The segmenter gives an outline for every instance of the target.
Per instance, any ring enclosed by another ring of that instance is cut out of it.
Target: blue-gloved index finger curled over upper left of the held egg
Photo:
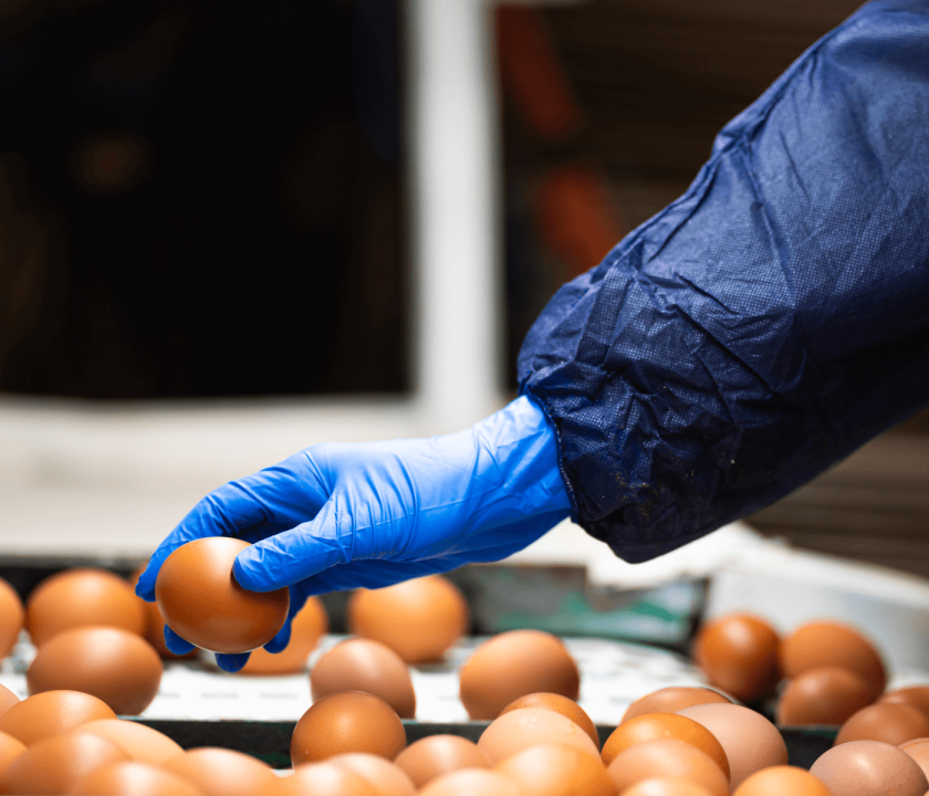
[[[300,455],[300,454],[298,454]],[[294,470],[291,457],[279,465],[230,481],[201,500],[158,545],[138,579],[136,594],[152,603],[155,580],[165,559],[181,545],[207,536],[275,534],[313,517],[328,495],[311,470]]]

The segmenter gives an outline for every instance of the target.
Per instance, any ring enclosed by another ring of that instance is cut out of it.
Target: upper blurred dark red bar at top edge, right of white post
[[[577,132],[581,107],[539,12],[498,7],[497,48],[503,85],[535,133],[559,140]]]

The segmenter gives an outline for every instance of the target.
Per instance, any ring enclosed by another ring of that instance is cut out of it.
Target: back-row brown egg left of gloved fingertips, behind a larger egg
[[[145,609],[123,578],[103,569],[69,569],[45,578],[25,605],[25,627],[41,647],[52,636],[86,625],[103,625],[142,636]]]

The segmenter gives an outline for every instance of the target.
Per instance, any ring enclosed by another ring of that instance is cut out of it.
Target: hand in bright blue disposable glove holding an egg
[[[289,586],[290,616],[265,649],[290,640],[310,595],[377,588],[504,558],[570,513],[554,429],[519,398],[467,431],[369,444],[325,443],[232,481],[200,501],[152,556],[136,586],[149,603],[165,558],[203,536],[254,543],[233,575],[252,591]],[[165,628],[173,652],[192,646]],[[227,671],[248,660],[217,656]]]

